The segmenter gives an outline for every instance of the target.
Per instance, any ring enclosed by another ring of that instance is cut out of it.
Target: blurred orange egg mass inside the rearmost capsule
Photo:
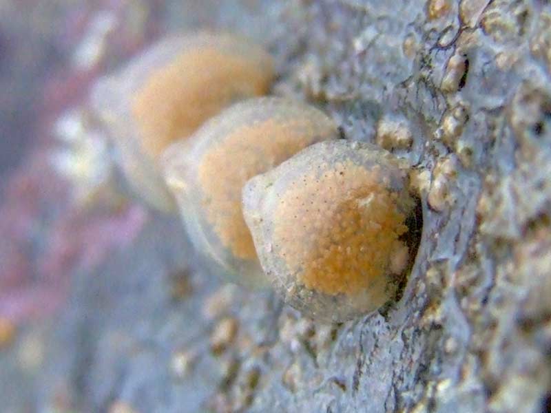
[[[185,52],[156,70],[134,95],[132,114],[143,150],[157,158],[233,100],[266,94],[272,76],[270,70],[216,47]]]

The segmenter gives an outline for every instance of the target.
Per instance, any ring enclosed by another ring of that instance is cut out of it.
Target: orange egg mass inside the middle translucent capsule
[[[291,158],[319,134],[304,120],[282,123],[273,118],[238,127],[205,153],[198,179],[208,222],[225,248],[242,260],[256,258],[241,208],[245,182]]]

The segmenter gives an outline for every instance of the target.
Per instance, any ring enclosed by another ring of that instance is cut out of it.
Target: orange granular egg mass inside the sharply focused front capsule
[[[340,162],[292,184],[275,211],[273,244],[291,274],[306,288],[328,295],[356,295],[391,272],[393,254],[407,247],[408,227],[377,167]],[[404,196],[404,195],[402,195]],[[398,268],[402,271],[405,262]]]

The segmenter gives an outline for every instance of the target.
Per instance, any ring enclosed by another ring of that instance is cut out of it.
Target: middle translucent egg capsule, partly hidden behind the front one
[[[335,123],[318,109],[284,98],[237,103],[165,152],[165,179],[191,240],[233,282],[263,286],[241,207],[242,187],[315,142],[335,139]]]

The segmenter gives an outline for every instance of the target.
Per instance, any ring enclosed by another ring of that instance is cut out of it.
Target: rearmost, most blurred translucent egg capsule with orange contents
[[[171,36],[102,79],[92,104],[112,129],[132,188],[153,207],[174,209],[160,154],[231,103],[269,91],[271,56],[231,34]]]

